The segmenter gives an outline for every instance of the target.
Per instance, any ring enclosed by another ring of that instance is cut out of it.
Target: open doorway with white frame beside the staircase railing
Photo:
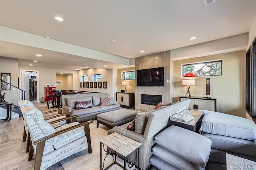
[[[26,92],[25,99],[29,101],[39,100],[39,71],[20,70],[20,77],[20,87]]]

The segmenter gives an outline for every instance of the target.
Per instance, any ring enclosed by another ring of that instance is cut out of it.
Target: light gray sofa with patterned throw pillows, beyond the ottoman
[[[67,106],[72,115],[79,115],[78,122],[95,119],[96,115],[108,111],[120,109],[120,104],[100,106],[100,97],[108,97],[108,93],[85,93],[74,95],[62,95],[62,105]],[[87,109],[75,109],[76,101],[92,101],[93,107]]]

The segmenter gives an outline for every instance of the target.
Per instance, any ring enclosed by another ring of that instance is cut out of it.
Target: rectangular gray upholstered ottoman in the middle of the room
[[[97,115],[97,128],[99,123],[108,127],[123,125],[135,119],[137,112],[127,109],[118,109]]]

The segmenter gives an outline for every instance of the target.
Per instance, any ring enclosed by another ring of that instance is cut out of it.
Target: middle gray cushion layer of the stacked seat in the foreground
[[[168,162],[169,164],[175,166],[179,169],[185,170],[204,170],[204,168],[193,164],[192,162],[182,158],[181,156],[167,150],[166,148],[156,144],[152,148],[153,154],[156,155],[158,158]]]

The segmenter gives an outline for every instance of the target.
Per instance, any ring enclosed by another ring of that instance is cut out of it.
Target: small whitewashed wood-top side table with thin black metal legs
[[[107,145],[109,148],[113,149],[115,151],[115,159],[112,164],[110,164],[107,168],[113,164],[117,164],[120,167],[124,168],[126,170],[126,156],[128,156],[130,153],[132,153],[135,149],[137,149],[138,154],[138,169],[140,169],[140,142],[137,142],[135,140],[132,140],[126,136],[123,136],[119,133],[112,133],[102,139],[100,139],[100,170],[102,170],[102,145],[104,147],[104,144]],[[118,164],[116,162],[116,152],[124,156],[124,166]]]

